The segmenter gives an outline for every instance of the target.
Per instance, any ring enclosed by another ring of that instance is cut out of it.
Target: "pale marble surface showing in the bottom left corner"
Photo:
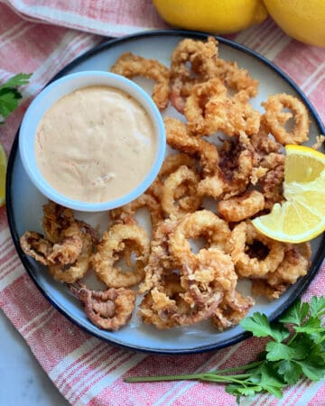
[[[68,406],[0,309],[0,405]]]

